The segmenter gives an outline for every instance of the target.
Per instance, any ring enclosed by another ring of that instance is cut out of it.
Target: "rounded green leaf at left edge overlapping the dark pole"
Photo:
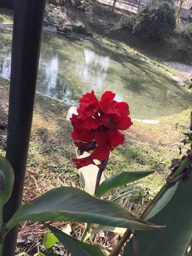
[[[4,172],[6,180],[5,180],[5,186],[2,191],[2,198],[3,198],[3,204],[5,204],[11,194],[12,194],[12,189],[13,189],[13,183],[15,179],[15,175],[13,172],[13,168],[9,161],[5,158],[0,156],[0,170]]]

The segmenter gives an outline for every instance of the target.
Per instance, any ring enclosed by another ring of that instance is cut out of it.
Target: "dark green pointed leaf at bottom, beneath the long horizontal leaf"
[[[73,256],[103,256],[103,253],[98,246],[85,244],[72,236],[63,233],[55,227],[48,224],[45,225]]]

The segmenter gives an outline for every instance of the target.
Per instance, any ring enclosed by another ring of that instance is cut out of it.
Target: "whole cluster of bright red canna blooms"
[[[128,104],[116,102],[114,97],[115,93],[107,91],[99,101],[92,90],[79,99],[78,115],[73,114],[70,118],[74,128],[72,138],[76,141],[80,154],[90,150],[93,153],[89,157],[73,158],[77,169],[95,164],[93,159],[107,159],[110,151],[123,144],[125,136],[119,130],[126,130],[133,123],[128,116]],[[101,166],[98,165],[99,168]]]

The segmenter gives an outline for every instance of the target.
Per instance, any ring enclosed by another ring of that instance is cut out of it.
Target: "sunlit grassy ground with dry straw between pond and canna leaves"
[[[0,79],[0,121],[7,120],[8,99],[9,81]],[[80,187],[78,172],[72,163],[72,157],[76,156],[76,147],[70,134],[73,128],[70,122],[66,121],[69,108],[64,103],[36,94],[23,202],[33,200],[55,187]],[[176,123],[185,125],[189,115],[190,110],[186,110],[174,116],[163,117],[158,125],[134,122],[125,134],[127,140],[124,145],[112,152],[105,175],[110,177],[128,170],[155,170],[153,175],[145,178],[145,183],[137,187],[141,190],[146,204],[154,197],[169,175],[171,160],[179,157],[180,131],[176,131],[174,125]],[[6,132],[0,131],[0,134],[5,135]],[[183,148],[183,153],[186,149],[187,146]],[[0,154],[5,155],[5,148],[2,146],[0,146]],[[130,204],[130,210],[134,210],[137,204],[140,205],[140,199]],[[61,228],[64,224],[55,223],[54,225]],[[77,237],[82,232],[83,225],[71,224],[71,227],[73,230],[71,235]],[[35,234],[38,238],[35,238],[34,243],[40,242],[41,253],[55,255],[55,247],[47,250],[42,245],[41,236],[44,236],[45,230],[40,222],[25,222],[19,232],[20,235]],[[17,253],[25,248],[25,245],[18,246]],[[34,250],[35,253],[36,248]]]

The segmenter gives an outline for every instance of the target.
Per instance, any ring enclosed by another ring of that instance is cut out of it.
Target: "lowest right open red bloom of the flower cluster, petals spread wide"
[[[94,134],[98,146],[93,150],[91,157],[97,160],[105,160],[109,157],[110,151],[113,151],[118,145],[123,144],[125,135],[118,130],[105,132],[96,132]]]

